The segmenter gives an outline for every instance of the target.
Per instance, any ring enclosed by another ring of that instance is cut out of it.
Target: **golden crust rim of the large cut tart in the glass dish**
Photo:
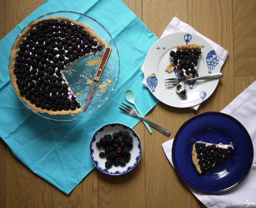
[[[78,114],[79,112],[82,111],[82,107],[81,108],[76,108],[75,110],[46,110],[46,109],[42,109],[40,107],[36,107],[34,104],[30,103],[29,100],[27,100],[24,96],[22,96],[20,94],[20,90],[18,89],[18,85],[16,84],[16,76],[14,74],[14,64],[16,63],[16,55],[17,52],[19,50],[19,46],[22,43],[22,41],[26,38],[26,36],[29,34],[30,29],[35,28],[38,24],[42,24],[42,22],[49,22],[50,20],[56,21],[56,20],[60,20],[60,21],[65,21],[65,22],[70,22],[72,24],[76,24],[79,27],[82,27],[91,37],[93,37],[99,45],[101,45],[103,48],[105,47],[105,43],[104,41],[102,41],[102,39],[100,38],[99,35],[97,35],[90,27],[80,23],[80,22],[76,22],[74,20],[71,20],[69,18],[63,18],[63,17],[51,17],[51,18],[47,18],[47,19],[43,19],[43,20],[38,20],[32,24],[30,24],[29,26],[27,26],[24,31],[17,37],[16,41],[13,44],[11,53],[10,53],[10,68],[9,68],[9,74],[10,74],[10,81],[11,84],[16,92],[16,94],[34,111],[36,112],[40,112],[40,113],[48,113],[50,115],[68,115],[68,114]],[[93,54],[93,53],[92,53]],[[90,54],[90,55],[92,55]],[[84,58],[88,57],[88,55],[84,56]],[[82,60],[82,59],[81,59]],[[71,67],[72,64],[70,64],[69,67]]]

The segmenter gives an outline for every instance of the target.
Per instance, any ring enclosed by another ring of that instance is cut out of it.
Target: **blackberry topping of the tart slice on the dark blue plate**
[[[226,154],[233,150],[232,147],[226,149],[218,147],[216,144],[206,146],[206,144],[198,142],[195,144],[195,147],[201,171],[212,167],[217,161],[222,160]]]

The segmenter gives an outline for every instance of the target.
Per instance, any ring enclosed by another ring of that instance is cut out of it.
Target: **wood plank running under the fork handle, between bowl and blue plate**
[[[176,16],[187,22],[187,1],[142,1],[142,21],[160,38],[170,21]],[[145,192],[146,207],[189,207],[190,191],[180,179],[162,149],[162,143],[172,139],[182,122],[188,117],[188,109],[181,110],[159,102],[147,115],[148,119],[171,131],[166,137],[152,129],[145,139]],[[180,114],[183,114],[180,118]],[[178,122],[171,122],[178,121]],[[185,199],[185,200],[184,200]]]

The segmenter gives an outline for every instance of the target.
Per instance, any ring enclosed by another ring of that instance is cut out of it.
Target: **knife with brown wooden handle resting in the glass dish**
[[[93,98],[93,96],[94,96],[94,94],[95,94],[95,92],[98,88],[100,77],[101,77],[101,75],[102,75],[102,73],[103,73],[103,71],[106,67],[106,64],[108,62],[108,58],[110,57],[111,52],[112,52],[112,48],[109,45],[106,46],[105,49],[104,49],[103,55],[100,59],[100,64],[98,66],[95,77],[93,79],[92,86],[91,86],[90,91],[88,93],[88,96],[86,98],[83,112],[86,111],[86,109],[88,108],[88,106],[90,105],[90,103],[92,101],[92,98]]]

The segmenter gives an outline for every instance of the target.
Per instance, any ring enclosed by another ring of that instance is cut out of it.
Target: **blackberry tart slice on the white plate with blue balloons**
[[[171,71],[176,68],[181,78],[196,77],[198,60],[201,54],[201,45],[180,45],[176,51],[170,51]]]

